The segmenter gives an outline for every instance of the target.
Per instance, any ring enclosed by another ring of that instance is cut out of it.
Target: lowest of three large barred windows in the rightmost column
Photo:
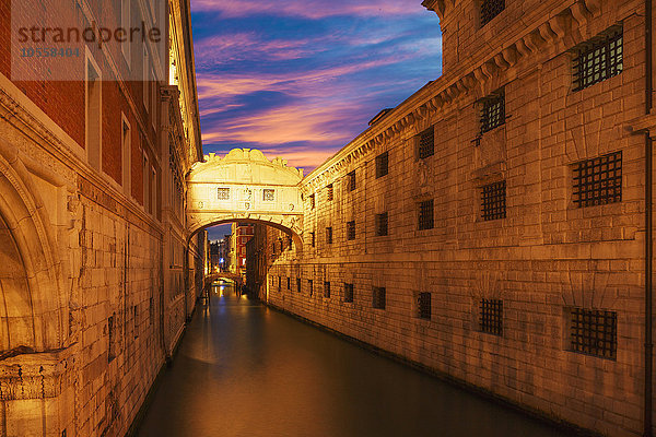
[[[570,347],[573,352],[614,359],[618,350],[618,314],[571,308]]]

